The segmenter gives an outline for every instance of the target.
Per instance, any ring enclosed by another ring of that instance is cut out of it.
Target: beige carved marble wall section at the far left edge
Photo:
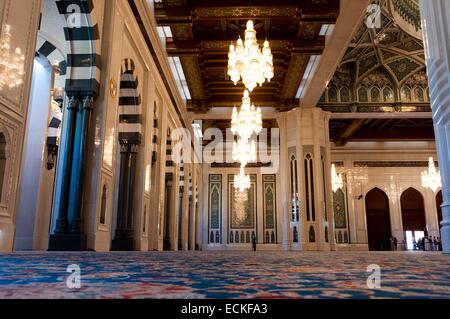
[[[23,165],[25,126],[31,91],[31,76],[35,54],[41,0],[0,3],[1,24],[11,26],[11,47],[20,47],[25,54],[24,83],[18,88],[0,91],[0,132],[6,141],[6,169],[0,199],[0,251],[11,251],[15,232],[19,195],[19,178]]]

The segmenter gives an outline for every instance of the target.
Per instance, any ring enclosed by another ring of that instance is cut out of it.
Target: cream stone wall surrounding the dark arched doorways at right
[[[439,236],[436,193],[424,188],[421,182],[428,158],[436,159],[434,143],[349,143],[344,148],[333,148],[331,154],[337,172],[346,181],[350,243],[338,245],[338,250],[368,249],[365,196],[374,188],[389,198],[391,232],[399,242],[405,236],[400,197],[408,188],[414,188],[423,197],[428,234]]]

